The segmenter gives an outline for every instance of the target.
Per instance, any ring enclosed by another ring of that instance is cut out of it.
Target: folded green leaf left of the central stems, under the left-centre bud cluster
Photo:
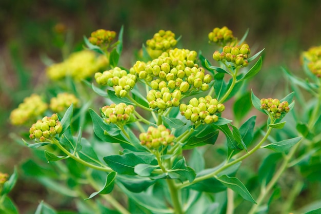
[[[93,129],[99,139],[109,143],[128,143],[121,134],[112,136],[108,134],[108,126],[103,122],[103,119],[92,109],[89,109],[89,113],[93,122]],[[106,133],[106,134],[105,134]]]

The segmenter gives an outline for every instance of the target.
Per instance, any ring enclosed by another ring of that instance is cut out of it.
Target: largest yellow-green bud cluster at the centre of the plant
[[[152,88],[147,95],[151,108],[178,106],[182,93],[209,89],[212,76],[198,67],[196,57],[196,51],[175,48],[149,63],[136,62],[133,72]]]

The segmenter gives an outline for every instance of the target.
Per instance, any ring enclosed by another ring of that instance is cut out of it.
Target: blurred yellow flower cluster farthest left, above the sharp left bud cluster
[[[41,96],[32,94],[19,104],[18,108],[11,111],[10,122],[12,125],[28,124],[37,116],[42,115],[48,109],[48,104],[43,102]]]

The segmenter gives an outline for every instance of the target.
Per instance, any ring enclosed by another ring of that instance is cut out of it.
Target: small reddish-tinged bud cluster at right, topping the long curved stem
[[[282,113],[287,113],[290,111],[289,103],[287,101],[283,101],[280,103],[277,99],[261,99],[261,109],[267,110],[273,118],[280,118]]]

